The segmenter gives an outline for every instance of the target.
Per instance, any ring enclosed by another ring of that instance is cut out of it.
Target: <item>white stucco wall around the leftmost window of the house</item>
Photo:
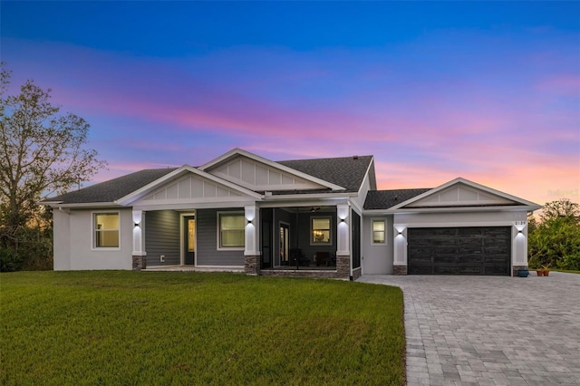
[[[92,213],[119,211],[121,243],[119,248],[92,247]],[[54,270],[96,270],[132,268],[131,208],[71,210],[68,214],[54,209]]]

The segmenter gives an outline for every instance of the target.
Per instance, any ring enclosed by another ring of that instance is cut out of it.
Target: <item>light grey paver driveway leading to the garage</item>
[[[401,287],[409,385],[580,385],[580,275],[364,275]]]

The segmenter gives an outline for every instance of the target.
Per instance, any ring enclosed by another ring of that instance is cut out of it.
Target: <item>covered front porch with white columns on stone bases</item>
[[[133,269],[342,278],[360,271],[360,217],[349,205],[133,210],[133,221]]]

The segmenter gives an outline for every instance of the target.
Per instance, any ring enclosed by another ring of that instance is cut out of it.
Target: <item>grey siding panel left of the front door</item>
[[[179,265],[179,212],[155,210],[145,214],[147,265]],[[160,256],[165,256],[161,262]]]

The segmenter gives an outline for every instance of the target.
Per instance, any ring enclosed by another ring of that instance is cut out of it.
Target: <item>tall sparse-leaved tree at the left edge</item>
[[[37,202],[90,179],[106,163],[85,149],[90,125],[51,103],[51,89],[28,80],[6,95],[10,72],[0,71],[0,236],[11,246],[38,214]]]

